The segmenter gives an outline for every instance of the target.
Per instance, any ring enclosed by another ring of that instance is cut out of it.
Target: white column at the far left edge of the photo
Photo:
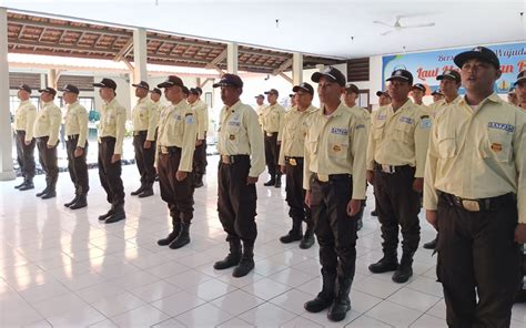
[[[8,10],[0,8],[0,181],[14,180],[9,111]]]

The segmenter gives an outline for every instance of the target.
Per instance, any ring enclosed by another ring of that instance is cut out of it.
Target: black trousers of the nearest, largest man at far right
[[[468,212],[438,198],[437,276],[449,327],[509,327],[522,259],[517,202],[510,194],[502,201],[493,211]]]

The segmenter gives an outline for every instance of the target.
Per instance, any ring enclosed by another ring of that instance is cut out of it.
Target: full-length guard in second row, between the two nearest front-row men
[[[387,79],[393,103],[371,115],[367,146],[367,181],[374,186],[382,225],[384,256],[370,265],[374,273],[395,271],[393,281],[413,275],[413,255],[418,248],[422,193],[431,119],[408,99],[413,75],[395,70]],[[402,259],[398,265],[398,225],[402,226]]]

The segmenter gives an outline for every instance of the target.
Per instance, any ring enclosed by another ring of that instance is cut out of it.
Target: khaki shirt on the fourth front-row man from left
[[[122,141],[127,132],[127,110],[117,99],[102,105],[99,123],[99,137],[112,136],[115,139],[113,154],[122,154]]]

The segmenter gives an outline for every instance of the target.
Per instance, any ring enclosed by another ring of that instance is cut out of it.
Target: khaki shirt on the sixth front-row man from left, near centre
[[[218,151],[221,155],[251,155],[249,176],[256,177],[265,170],[265,151],[255,111],[236,102],[220,113]]]

